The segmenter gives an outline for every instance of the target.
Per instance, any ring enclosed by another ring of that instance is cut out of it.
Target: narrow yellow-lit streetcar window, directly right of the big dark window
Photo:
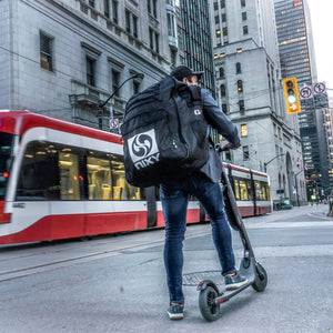
[[[79,154],[72,148],[59,151],[59,178],[61,200],[80,200]]]

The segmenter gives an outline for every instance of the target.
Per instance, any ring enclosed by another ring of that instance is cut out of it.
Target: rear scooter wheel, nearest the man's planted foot
[[[214,303],[214,300],[218,296],[218,292],[212,286],[205,287],[199,294],[199,307],[201,314],[209,322],[213,322],[220,316],[220,304]]]

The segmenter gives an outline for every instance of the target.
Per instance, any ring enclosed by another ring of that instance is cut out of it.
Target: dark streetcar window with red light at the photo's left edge
[[[10,133],[0,132],[0,200],[4,200],[10,172],[12,138]]]

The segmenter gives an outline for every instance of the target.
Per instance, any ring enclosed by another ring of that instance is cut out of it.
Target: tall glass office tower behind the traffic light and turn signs
[[[317,81],[311,17],[307,0],[274,0],[282,78],[296,77],[299,89]],[[307,198],[330,190],[327,147],[321,142],[323,125],[321,105],[313,99],[302,101],[299,113],[303,163],[307,164]]]

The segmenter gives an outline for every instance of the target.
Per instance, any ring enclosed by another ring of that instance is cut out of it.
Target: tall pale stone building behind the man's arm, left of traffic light
[[[273,1],[210,0],[210,8],[219,102],[242,137],[242,149],[225,158],[266,171],[275,203],[303,204],[301,138],[284,107]]]

